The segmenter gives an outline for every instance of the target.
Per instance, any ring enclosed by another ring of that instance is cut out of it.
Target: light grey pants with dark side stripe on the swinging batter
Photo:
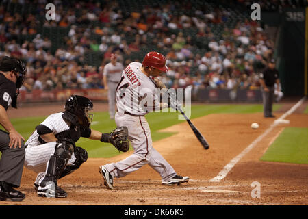
[[[124,177],[145,164],[149,164],[156,170],[162,177],[162,181],[168,181],[176,175],[172,166],[153,148],[150,127],[144,116],[131,116],[117,112],[115,121],[118,127],[127,127],[134,153],[120,162],[104,165],[112,177]]]

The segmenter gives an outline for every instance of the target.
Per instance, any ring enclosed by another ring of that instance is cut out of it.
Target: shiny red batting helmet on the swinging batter
[[[166,66],[166,57],[161,53],[149,52],[144,57],[142,61],[144,67],[152,67],[162,70],[164,72],[168,71],[169,68]]]

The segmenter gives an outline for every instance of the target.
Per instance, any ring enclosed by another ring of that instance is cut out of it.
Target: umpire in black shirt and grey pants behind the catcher
[[[14,129],[7,114],[8,107],[17,108],[18,89],[25,80],[25,64],[14,57],[0,61],[0,201],[22,201],[25,194],[14,190],[21,183],[25,160],[25,139]]]

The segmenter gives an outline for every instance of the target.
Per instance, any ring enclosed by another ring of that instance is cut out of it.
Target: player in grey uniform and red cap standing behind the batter
[[[106,64],[103,69],[103,84],[108,90],[108,104],[110,119],[114,119],[116,107],[116,86],[120,81],[123,72],[123,64],[116,61],[116,54],[110,56],[110,63]]]

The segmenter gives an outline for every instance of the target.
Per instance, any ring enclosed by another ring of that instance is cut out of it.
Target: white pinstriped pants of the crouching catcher
[[[40,144],[37,146],[27,146],[25,149],[25,167],[38,172],[36,177],[36,184],[39,184],[40,179],[42,180],[45,176],[45,170],[47,170],[47,163],[50,157],[55,153],[55,144],[57,142],[49,142],[46,144]],[[68,160],[68,165],[75,162],[75,155]]]

